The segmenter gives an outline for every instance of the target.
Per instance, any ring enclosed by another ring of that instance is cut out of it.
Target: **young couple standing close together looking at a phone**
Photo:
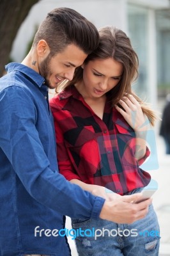
[[[73,228],[158,230],[151,199],[132,204],[150,182],[139,164],[150,154],[143,124],[153,124],[155,115],[131,90],[137,56],[125,33],[112,27],[98,33],[79,13],[58,8],[22,63],[6,70],[0,254],[70,255],[66,237],[54,236],[65,226],[63,215]],[[59,85],[49,105],[48,88]],[[77,237],[76,243],[81,256],[158,255],[159,237]]]

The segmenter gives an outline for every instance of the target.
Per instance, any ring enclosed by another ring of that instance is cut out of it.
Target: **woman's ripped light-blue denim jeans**
[[[77,236],[75,243],[80,256],[158,256],[160,230],[157,215],[150,205],[142,220],[118,224],[106,220],[72,220],[73,229],[94,230]],[[98,231],[97,231],[98,229]]]

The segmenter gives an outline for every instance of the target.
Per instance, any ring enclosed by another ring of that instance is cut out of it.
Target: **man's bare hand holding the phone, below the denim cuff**
[[[115,198],[112,202],[105,201],[100,218],[104,220],[113,221],[116,223],[133,223],[140,220],[148,213],[148,207],[151,204],[151,198],[135,204],[141,200],[142,193],[133,195],[125,195]]]

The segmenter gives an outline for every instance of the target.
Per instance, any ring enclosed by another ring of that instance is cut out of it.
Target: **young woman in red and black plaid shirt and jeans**
[[[108,26],[99,33],[97,50],[50,106],[60,172],[83,189],[114,200],[150,183],[150,175],[139,166],[150,155],[145,138],[155,114],[132,92],[138,58],[127,35]],[[158,255],[159,227],[152,205],[143,220],[130,225],[77,219],[72,225],[103,231],[76,238],[81,256]]]

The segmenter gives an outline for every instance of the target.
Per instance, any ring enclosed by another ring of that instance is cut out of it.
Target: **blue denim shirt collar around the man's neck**
[[[33,80],[38,85],[38,87],[42,87],[44,85],[45,79],[40,74],[38,74],[35,70],[23,64],[12,62],[6,65],[5,69],[8,73],[12,72],[13,70],[22,72],[31,80]]]

